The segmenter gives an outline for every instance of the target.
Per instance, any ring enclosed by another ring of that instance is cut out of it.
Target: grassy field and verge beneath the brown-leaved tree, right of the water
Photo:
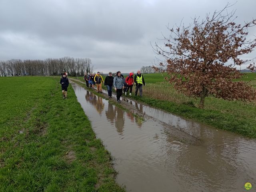
[[[171,84],[164,81],[166,74],[143,74],[143,76],[146,82],[146,86],[143,87],[143,97],[132,96],[134,100],[218,129],[256,138],[256,102],[206,97],[205,109],[202,110],[198,109],[199,98],[190,98],[174,90]],[[79,79],[83,80],[83,77]],[[256,87],[256,73],[244,73],[240,80],[248,81]]]

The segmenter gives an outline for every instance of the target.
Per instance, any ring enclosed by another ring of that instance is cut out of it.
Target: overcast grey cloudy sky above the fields
[[[236,0],[0,0],[0,60],[70,56],[90,58],[104,73],[136,71],[154,64],[150,42],[164,44],[168,24],[188,25],[227,2]],[[256,0],[238,0],[229,10],[242,23],[255,8]]]

